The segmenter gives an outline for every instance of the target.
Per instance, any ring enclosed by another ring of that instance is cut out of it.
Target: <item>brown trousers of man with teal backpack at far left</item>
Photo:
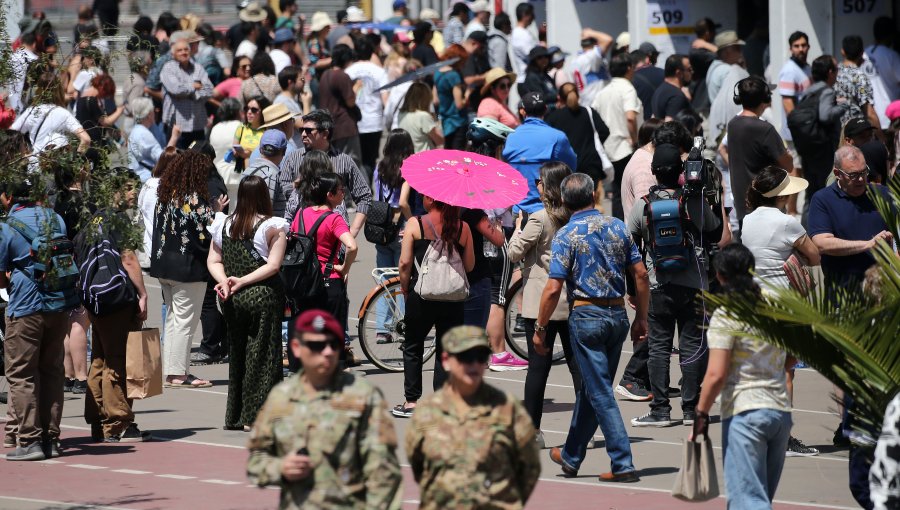
[[[19,445],[59,439],[68,312],[6,318],[6,380]]]

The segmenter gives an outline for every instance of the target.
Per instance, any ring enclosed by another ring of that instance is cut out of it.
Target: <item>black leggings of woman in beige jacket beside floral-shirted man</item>
[[[525,410],[531,416],[531,423],[537,430],[541,429],[541,417],[544,415],[544,390],[547,389],[547,378],[550,377],[550,367],[553,366],[553,344],[556,335],[562,342],[563,353],[566,355],[566,364],[569,373],[572,374],[572,385],[575,394],[581,391],[581,371],[575,358],[572,356],[572,344],[569,341],[569,321],[550,321],[547,324],[547,336],[544,346],[550,351],[546,356],[541,356],[534,350],[531,339],[534,338],[535,319],[525,319],[525,338],[528,339],[528,373],[525,374]]]

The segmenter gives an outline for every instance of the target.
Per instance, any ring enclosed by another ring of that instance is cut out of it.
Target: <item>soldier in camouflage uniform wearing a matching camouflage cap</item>
[[[484,329],[457,326],[441,341],[449,380],[419,401],[406,435],[421,508],[522,508],[541,473],[531,418],[518,399],[484,382]]]

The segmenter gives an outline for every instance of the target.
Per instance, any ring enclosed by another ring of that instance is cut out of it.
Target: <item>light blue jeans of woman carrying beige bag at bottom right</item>
[[[722,422],[728,510],[771,508],[791,435],[791,413],[753,409]]]

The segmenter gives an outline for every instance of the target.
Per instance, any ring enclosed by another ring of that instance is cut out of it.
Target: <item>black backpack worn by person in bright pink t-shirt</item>
[[[294,301],[322,296],[325,293],[325,278],[332,270],[337,246],[331,259],[325,265],[326,273],[322,273],[322,265],[316,256],[316,232],[325,218],[333,214],[328,211],[313,223],[309,232],[303,225],[303,209],[297,212],[299,220],[298,232],[288,234],[284,261],[281,263],[281,280],[284,282],[285,295]]]

